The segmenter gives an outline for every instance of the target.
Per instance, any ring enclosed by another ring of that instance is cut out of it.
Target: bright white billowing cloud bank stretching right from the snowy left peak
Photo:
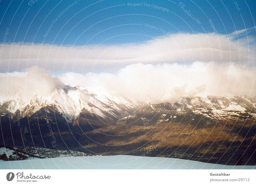
[[[180,96],[255,96],[256,68],[217,63],[131,64],[117,74],[65,73],[59,78],[68,85],[82,85],[118,93],[127,98],[158,103]]]

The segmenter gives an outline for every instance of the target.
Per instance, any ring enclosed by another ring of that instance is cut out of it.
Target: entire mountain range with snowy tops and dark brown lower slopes
[[[47,97],[2,98],[0,145],[256,164],[255,102],[207,96],[152,104],[62,85]]]

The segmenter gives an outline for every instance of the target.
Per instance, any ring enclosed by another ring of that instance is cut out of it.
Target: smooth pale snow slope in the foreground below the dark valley
[[[185,159],[128,155],[62,157],[22,161],[0,160],[1,169],[256,169],[256,166],[229,166]]]

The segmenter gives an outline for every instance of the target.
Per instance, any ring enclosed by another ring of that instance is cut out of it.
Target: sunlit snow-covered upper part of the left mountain
[[[136,104],[137,103],[137,104]],[[122,96],[111,95],[106,92],[82,86],[62,85],[56,87],[51,96],[35,95],[31,100],[22,100],[15,96],[9,100],[0,102],[1,112],[14,114],[17,110],[22,116],[32,115],[42,107],[53,106],[57,111],[72,120],[85,108],[89,112],[104,116],[115,113],[128,113],[139,107],[140,101],[131,102]],[[104,112],[104,113],[103,113]],[[114,113],[115,112],[115,113]]]

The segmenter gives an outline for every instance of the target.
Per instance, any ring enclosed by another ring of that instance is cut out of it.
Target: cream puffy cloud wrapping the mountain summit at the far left
[[[19,98],[30,101],[35,95],[47,99],[61,82],[43,68],[31,67],[27,72],[0,73],[0,102]]]

